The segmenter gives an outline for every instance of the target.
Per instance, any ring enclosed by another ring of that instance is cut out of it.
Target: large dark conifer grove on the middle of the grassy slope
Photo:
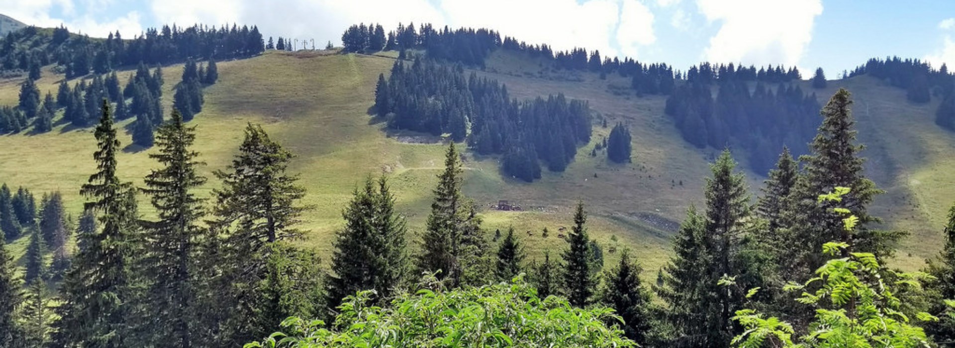
[[[558,94],[521,102],[495,80],[422,59],[396,61],[388,79],[378,76],[374,110],[393,129],[448,133],[478,154],[502,154],[504,173],[528,182],[541,177],[540,160],[562,172],[592,127],[584,101]]]

